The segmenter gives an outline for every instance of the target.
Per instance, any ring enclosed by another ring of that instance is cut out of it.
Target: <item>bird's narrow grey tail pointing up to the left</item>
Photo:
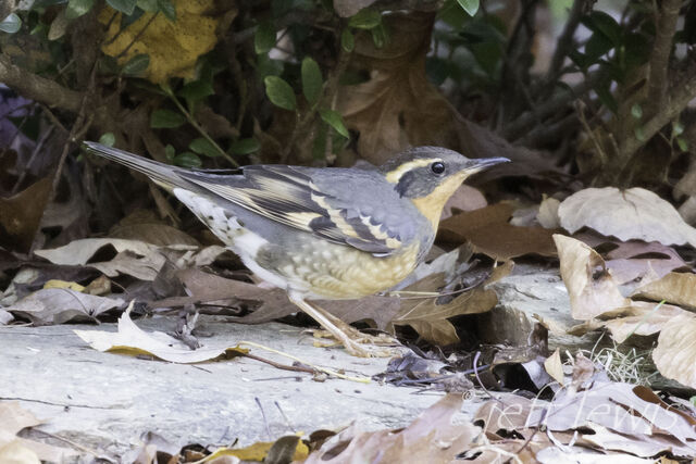
[[[176,167],[170,166],[169,164],[148,160],[147,158],[138,156],[137,154],[128,153],[127,151],[107,147],[94,141],[86,141],[84,143],[87,147],[88,152],[138,171],[167,190],[172,190],[174,187],[184,187],[188,189],[194,187],[190,181],[184,179],[177,174]]]

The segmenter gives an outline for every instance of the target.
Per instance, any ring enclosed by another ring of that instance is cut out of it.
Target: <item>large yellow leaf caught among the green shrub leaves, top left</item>
[[[198,57],[215,46],[215,28],[220,20],[206,15],[214,8],[214,0],[176,0],[176,21],[158,14],[145,13],[135,23],[120,32],[121,13],[104,8],[99,21],[110,24],[101,50],[123,65],[137,54],[147,53],[150,65],[145,76],[154,84],[170,77],[192,78]],[[116,17],[110,22],[112,16]]]

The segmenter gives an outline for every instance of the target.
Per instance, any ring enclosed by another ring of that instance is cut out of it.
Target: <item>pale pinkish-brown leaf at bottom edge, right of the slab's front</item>
[[[481,428],[471,424],[452,425],[461,403],[461,394],[447,394],[402,430],[338,435],[304,463],[450,463],[481,435]]]

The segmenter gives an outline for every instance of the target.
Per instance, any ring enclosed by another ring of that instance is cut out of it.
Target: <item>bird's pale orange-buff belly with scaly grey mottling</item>
[[[266,252],[268,251],[268,252]],[[352,299],[394,287],[417,264],[418,246],[384,258],[324,240],[283,250],[261,249],[259,264],[288,280],[288,289],[307,298]]]

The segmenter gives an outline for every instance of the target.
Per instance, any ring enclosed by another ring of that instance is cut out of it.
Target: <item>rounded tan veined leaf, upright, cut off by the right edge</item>
[[[652,360],[660,374],[696,388],[696,317],[682,314],[669,321],[660,331]]]

